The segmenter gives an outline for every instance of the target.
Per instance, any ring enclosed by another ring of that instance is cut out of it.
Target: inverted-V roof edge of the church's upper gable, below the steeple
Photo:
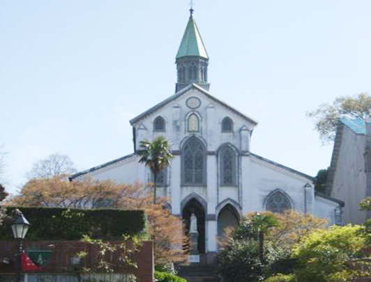
[[[233,111],[234,113],[241,116],[242,118],[245,118],[245,120],[250,121],[250,123],[252,123],[253,125],[257,125],[257,120],[254,120],[254,119],[250,118],[249,116],[245,116],[243,113],[241,113],[240,111],[237,111],[236,109],[229,106],[225,102],[222,102],[221,100],[218,100],[213,95],[211,95],[208,91],[206,91],[201,86],[198,86],[197,84],[188,85],[187,87],[181,89],[181,91],[178,91],[174,95],[168,97],[166,100],[163,100],[162,102],[156,104],[156,106],[151,107],[151,109],[148,109],[148,110],[144,111],[144,113],[139,114],[139,116],[136,116],[135,118],[132,118],[132,120],[130,120],[130,125],[133,125],[133,124],[137,123],[138,120],[144,118],[145,116],[148,116],[149,114],[153,113],[153,111],[156,111],[157,109],[160,109],[161,107],[164,107],[166,104],[168,104],[169,102],[172,102],[177,97],[180,97],[184,93],[190,91],[190,89],[192,89],[192,88],[197,89],[198,91],[200,91],[201,93],[203,93],[204,95],[209,97],[211,100],[214,100],[215,102],[218,102],[219,104],[222,104],[222,106],[226,107],[230,111]]]

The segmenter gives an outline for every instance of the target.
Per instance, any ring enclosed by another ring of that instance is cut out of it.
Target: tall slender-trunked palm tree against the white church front
[[[156,182],[157,176],[162,169],[169,166],[173,155],[170,152],[170,143],[163,136],[158,136],[153,141],[140,141],[140,149],[137,154],[140,156],[139,163],[144,163],[153,173],[154,191],[153,203],[156,203]]]

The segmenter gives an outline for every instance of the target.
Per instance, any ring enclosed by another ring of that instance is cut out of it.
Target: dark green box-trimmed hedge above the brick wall
[[[75,210],[56,207],[18,207],[31,224],[26,240],[80,240],[82,235],[119,240],[121,235],[145,235],[142,210]],[[8,207],[13,214],[15,207]],[[1,240],[13,240],[10,219],[0,226]]]

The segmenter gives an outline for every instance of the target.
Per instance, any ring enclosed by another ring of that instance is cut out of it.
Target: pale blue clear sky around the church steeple
[[[0,0],[0,143],[16,191],[54,152],[79,170],[132,152],[130,118],[174,93],[188,0]],[[315,175],[305,116],[371,91],[370,0],[196,0],[211,93],[259,121],[251,150]]]

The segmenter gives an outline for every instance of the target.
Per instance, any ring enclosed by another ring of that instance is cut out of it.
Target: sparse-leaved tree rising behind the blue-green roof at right
[[[356,97],[337,97],[332,104],[321,104],[309,111],[307,116],[315,119],[315,129],[324,143],[335,140],[339,118],[371,118],[371,97],[361,93]]]

